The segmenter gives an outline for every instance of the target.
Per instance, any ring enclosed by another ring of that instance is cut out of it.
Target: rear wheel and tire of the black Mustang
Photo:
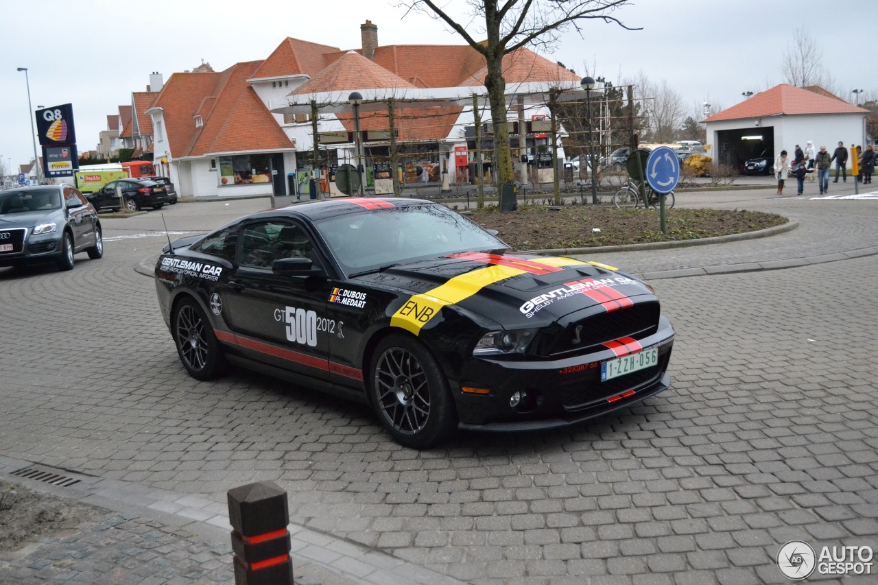
[[[225,359],[213,328],[195,300],[186,299],[174,310],[171,332],[186,371],[194,379],[214,379],[222,373]]]

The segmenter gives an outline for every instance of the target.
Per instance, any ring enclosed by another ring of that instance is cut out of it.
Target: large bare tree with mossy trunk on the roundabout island
[[[502,0],[500,3],[497,0],[467,0],[467,14],[460,22],[439,4],[450,5],[438,0],[406,0],[400,5],[443,20],[470,47],[485,57],[485,87],[491,105],[497,183],[512,183],[515,181],[515,171],[509,147],[504,95],[504,55],[526,46],[551,50],[557,46],[561,32],[571,26],[581,32],[580,26],[588,19],[597,18],[629,28],[611,16],[616,8],[628,4],[628,0]],[[483,35],[486,40],[478,40]]]

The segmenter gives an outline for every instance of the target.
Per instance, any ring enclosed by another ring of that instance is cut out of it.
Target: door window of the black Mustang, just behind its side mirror
[[[270,269],[280,258],[310,258],[320,266],[313,242],[299,225],[267,221],[249,224],[241,230],[238,264],[247,268]]]

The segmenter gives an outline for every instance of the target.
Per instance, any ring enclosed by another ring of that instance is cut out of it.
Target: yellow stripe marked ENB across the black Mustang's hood
[[[549,266],[572,266],[576,264],[590,264],[581,260],[564,257],[544,257],[533,259],[533,262]],[[485,268],[465,272],[460,276],[449,278],[443,284],[436,286],[427,293],[415,294],[399,307],[399,310],[390,318],[392,327],[399,327],[419,335],[421,329],[431,320],[439,310],[446,305],[455,305],[464,299],[470,298],[487,285],[493,285],[500,280],[512,278],[529,271],[523,268],[492,264]]]

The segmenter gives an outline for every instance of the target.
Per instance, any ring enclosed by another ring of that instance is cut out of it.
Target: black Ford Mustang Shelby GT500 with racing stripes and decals
[[[428,201],[248,215],[169,243],[155,286],[195,378],[228,362],[368,401],[412,447],[578,423],[670,386],[673,329],[649,286],[514,252]]]

